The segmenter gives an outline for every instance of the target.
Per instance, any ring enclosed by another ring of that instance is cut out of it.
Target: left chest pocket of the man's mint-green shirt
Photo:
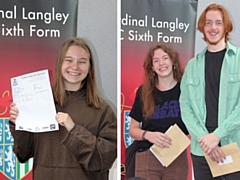
[[[200,100],[200,98],[202,97],[200,88],[201,87],[199,78],[187,78],[187,89],[190,100],[192,101]]]

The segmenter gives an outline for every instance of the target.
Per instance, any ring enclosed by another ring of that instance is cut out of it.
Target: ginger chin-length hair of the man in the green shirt
[[[225,29],[225,41],[229,40],[229,32],[232,31],[233,29],[233,24],[232,24],[232,20],[231,17],[228,13],[228,11],[219,4],[210,4],[209,6],[207,6],[205,8],[205,10],[202,12],[202,14],[200,15],[199,19],[198,19],[198,26],[197,29],[203,33],[204,37],[203,39],[206,41],[206,37],[205,37],[205,33],[204,33],[204,26],[206,24],[206,14],[208,11],[213,10],[213,11],[220,11],[222,13],[223,16],[223,24],[224,24],[224,29]]]

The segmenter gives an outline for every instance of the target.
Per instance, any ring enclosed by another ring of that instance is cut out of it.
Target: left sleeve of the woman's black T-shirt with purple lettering
[[[143,113],[142,113],[142,100],[141,100],[141,90],[142,90],[142,86],[140,86],[137,90],[136,93],[136,97],[131,109],[131,112],[129,114],[129,116],[133,119],[135,119],[138,122],[142,122],[143,120]]]

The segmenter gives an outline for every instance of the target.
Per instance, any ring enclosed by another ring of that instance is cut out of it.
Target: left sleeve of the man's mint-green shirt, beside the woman
[[[189,66],[189,65],[188,65]],[[188,68],[184,72],[184,75],[181,80],[181,94],[180,94],[180,109],[181,109],[181,116],[182,121],[187,127],[188,132],[191,135],[191,138],[198,141],[201,137],[208,134],[207,129],[203,123],[203,121],[198,120],[193,111],[192,103],[189,97],[189,89],[187,84],[187,77],[188,77]]]

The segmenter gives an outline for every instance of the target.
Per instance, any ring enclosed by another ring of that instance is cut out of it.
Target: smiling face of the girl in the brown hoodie
[[[90,69],[89,54],[80,46],[68,48],[62,63],[62,76],[66,90],[77,91]]]

